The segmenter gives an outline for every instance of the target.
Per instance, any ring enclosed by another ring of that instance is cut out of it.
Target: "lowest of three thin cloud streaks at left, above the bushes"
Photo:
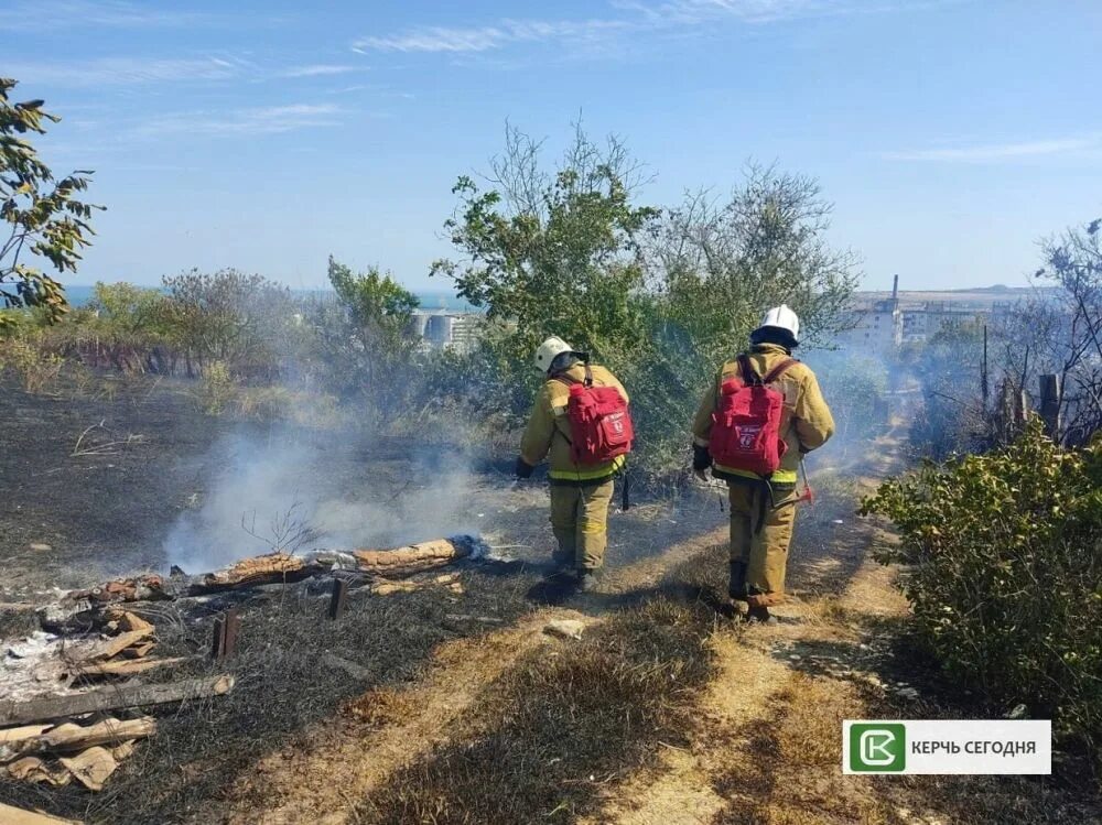
[[[134,134],[142,138],[179,133],[207,137],[281,134],[341,126],[343,112],[332,104],[268,106],[225,113],[174,112],[148,120],[134,130]]]

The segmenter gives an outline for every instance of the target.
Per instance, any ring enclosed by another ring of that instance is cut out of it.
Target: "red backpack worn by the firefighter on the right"
[[[707,451],[716,464],[766,478],[777,471],[788,449],[780,436],[785,397],[769,384],[795,363],[799,361],[788,358],[761,378],[745,354],[738,356],[742,376],[720,384],[720,403],[712,413]]]

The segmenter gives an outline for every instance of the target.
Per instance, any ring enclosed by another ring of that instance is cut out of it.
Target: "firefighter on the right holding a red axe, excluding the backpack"
[[[781,304],[770,310],[750,335],[747,352],[758,377],[768,376],[789,359],[799,343],[800,319]],[[792,540],[798,495],[797,470],[803,455],[827,443],[834,433],[834,420],[819,389],[814,373],[799,361],[790,365],[770,384],[784,395],[780,436],[787,451],[780,466],[768,478],[714,463],[709,453],[713,413],[724,381],[739,376],[737,359],[727,361],[712,382],[693,422],[693,470],[701,478],[709,467],[727,482],[731,500],[731,598],[749,605],[749,618],[776,621],[769,606],[784,598],[788,545]]]

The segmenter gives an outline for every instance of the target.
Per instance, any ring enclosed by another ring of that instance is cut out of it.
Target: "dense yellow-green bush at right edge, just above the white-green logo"
[[[1102,435],[1063,451],[1034,420],[1006,448],[887,481],[862,513],[897,525],[901,542],[878,560],[908,565],[918,630],[947,671],[993,706],[1050,715],[1096,753]]]

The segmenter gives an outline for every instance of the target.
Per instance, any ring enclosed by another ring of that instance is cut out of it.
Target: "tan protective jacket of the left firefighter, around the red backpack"
[[[628,401],[627,390],[616,380],[616,376],[596,363],[590,365],[595,387],[615,387],[624,401]],[[585,365],[575,363],[561,374],[585,380]],[[551,484],[599,484],[611,478],[624,466],[625,457],[619,456],[605,464],[581,467],[570,455],[570,420],[566,417],[566,401],[570,388],[562,381],[548,379],[536,395],[532,414],[520,439],[520,457],[525,464],[534,467],[545,457],[550,459],[548,476]]]

